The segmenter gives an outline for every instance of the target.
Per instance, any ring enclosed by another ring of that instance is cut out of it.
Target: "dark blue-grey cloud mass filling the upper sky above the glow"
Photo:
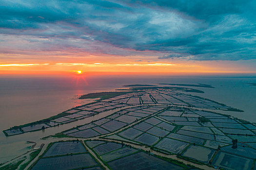
[[[25,38],[34,42],[29,48],[38,50],[72,47],[117,55],[152,51],[158,59],[256,59],[253,0],[0,3],[2,43]],[[12,51],[12,45],[8,48]],[[23,50],[28,45],[13,48]]]

